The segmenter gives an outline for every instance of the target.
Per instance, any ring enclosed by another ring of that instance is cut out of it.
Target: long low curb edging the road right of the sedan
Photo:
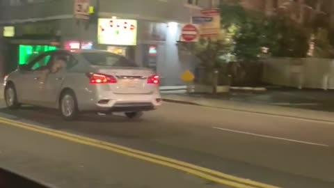
[[[170,99],[166,99],[166,98],[163,98],[162,100],[164,102],[172,102],[172,103],[176,103],[176,104],[190,104],[190,105],[194,105],[194,106],[198,106],[198,107],[209,107],[209,108],[223,109],[223,110],[228,110],[228,111],[240,111],[240,112],[246,112],[246,113],[257,113],[257,114],[268,115],[268,116],[278,116],[278,117],[285,117],[285,118],[296,118],[296,119],[303,119],[303,120],[312,120],[312,121],[324,122],[324,123],[334,123],[334,120],[317,119],[317,118],[306,118],[306,117],[303,117],[303,116],[289,116],[289,115],[282,114],[282,113],[270,113],[270,112],[263,112],[263,111],[251,111],[251,110],[247,110],[247,109],[233,109],[233,108],[229,108],[229,107],[212,107],[212,106],[209,106],[209,105],[198,104],[196,102],[186,102],[186,101],[182,101],[182,100],[170,100]],[[271,105],[267,105],[267,106],[271,106]]]

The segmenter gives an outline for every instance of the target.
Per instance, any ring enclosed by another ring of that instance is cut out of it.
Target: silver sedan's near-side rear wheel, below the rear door
[[[65,120],[75,120],[79,115],[77,97],[72,91],[66,91],[61,95],[59,110]]]

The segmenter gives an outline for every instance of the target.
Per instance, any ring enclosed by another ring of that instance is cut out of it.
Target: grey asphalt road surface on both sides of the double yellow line
[[[66,122],[56,111],[35,107],[1,109],[0,116],[278,187],[334,187],[334,123],[172,103],[145,113],[141,120],[85,114],[81,120]],[[52,183],[60,177],[60,186],[81,183],[79,187],[83,187],[86,180],[87,187],[221,186],[113,152],[85,148],[70,141],[60,143],[58,139],[17,127],[0,126],[0,135],[0,151],[9,151],[4,156],[0,152],[0,165],[4,162],[25,172],[36,166],[35,176]],[[30,159],[33,164],[29,164]],[[86,166],[84,172],[81,164]],[[55,177],[41,175],[46,171],[51,171],[49,176],[56,174]],[[72,177],[73,174],[77,175]]]

